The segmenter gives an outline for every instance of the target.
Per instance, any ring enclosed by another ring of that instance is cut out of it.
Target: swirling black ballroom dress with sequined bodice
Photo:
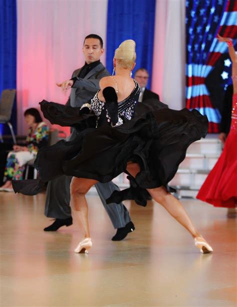
[[[111,127],[106,103],[91,99],[91,110],[81,114],[80,108],[42,101],[41,110],[52,124],[74,127],[78,134],[72,141],[61,140],[41,148],[34,166],[37,180],[13,182],[15,192],[34,195],[42,186],[62,174],[108,182],[126,172],[127,162],[136,162],[140,172],[130,187],[114,191],[107,203],[133,199],[145,206],[150,197],[146,188],[165,186],[185,158],[187,147],[205,137],[208,120],[197,110],[171,110],[162,103],[138,103],[139,86],[118,103],[118,116],[123,124]],[[82,109],[83,110],[83,109]]]

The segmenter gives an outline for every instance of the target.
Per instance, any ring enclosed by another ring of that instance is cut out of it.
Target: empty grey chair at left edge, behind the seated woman
[[[7,124],[10,128],[10,133],[13,139],[13,143],[16,144],[15,134],[10,123],[11,111],[15,99],[15,90],[3,90],[1,92],[0,100],[0,124]],[[0,140],[3,142],[1,131]]]

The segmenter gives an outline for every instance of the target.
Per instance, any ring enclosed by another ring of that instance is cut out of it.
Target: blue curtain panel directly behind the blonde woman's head
[[[155,0],[108,0],[106,68],[112,73],[115,49],[124,40],[136,43],[136,66],[149,72],[150,88],[154,40]],[[134,77],[134,74],[133,74]]]

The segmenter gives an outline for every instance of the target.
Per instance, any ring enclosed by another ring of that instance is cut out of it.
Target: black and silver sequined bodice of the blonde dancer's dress
[[[134,80],[135,87],[132,90],[131,94],[121,102],[118,102],[118,116],[124,117],[127,120],[130,120],[133,117],[135,105],[138,102],[140,87],[138,83]],[[97,116],[99,122],[101,122],[101,117],[106,118],[106,122],[110,123],[110,117],[105,108],[105,103],[98,99],[98,92],[91,99],[91,109],[94,114]]]

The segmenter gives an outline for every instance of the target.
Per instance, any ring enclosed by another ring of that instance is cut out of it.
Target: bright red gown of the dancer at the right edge
[[[237,205],[237,94],[233,95],[230,132],[223,151],[196,198],[215,207]]]

